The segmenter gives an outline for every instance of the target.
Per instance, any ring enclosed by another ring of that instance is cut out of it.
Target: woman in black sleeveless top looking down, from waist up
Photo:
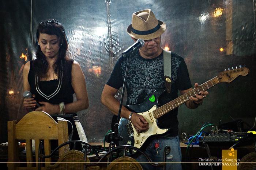
[[[35,60],[25,64],[24,99],[27,108],[48,114],[72,114],[89,107],[86,82],[80,65],[66,56],[68,42],[64,27],[55,19],[41,22],[37,29]],[[73,102],[73,94],[76,101]],[[36,102],[41,107],[36,108]]]

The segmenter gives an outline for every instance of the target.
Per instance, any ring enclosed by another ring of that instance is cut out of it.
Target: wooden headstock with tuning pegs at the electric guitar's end
[[[233,68],[233,67],[232,67]],[[218,75],[219,82],[232,82],[237,76],[242,75],[246,76],[249,74],[249,68],[240,67],[236,69],[228,69],[227,71],[223,71]]]

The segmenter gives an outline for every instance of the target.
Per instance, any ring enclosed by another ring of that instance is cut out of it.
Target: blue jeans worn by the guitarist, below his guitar
[[[155,143],[159,143],[158,154],[154,148]],[[156,137],[151,139],[145,153],[150,157],[152,162],[163,162],[163,150],[166,145],[171,147],[170,154],[166,156],[166,170],[182,170],[181,167],[181,149],[179,137]],[[143,170],[162,170],[161,167],[155,167],[147,163],[147,158],[140,155],[136,158]]]

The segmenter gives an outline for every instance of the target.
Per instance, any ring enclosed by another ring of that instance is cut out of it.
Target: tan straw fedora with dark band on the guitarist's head
[[[151,40],[162,35],[165,29],[165,23],[157,20],[151,9],[144,9],[132,14],[127,33],[135,39]]]

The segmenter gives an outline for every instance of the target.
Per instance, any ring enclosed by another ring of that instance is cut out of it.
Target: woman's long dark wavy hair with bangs
[[[41,22],[37,28],[37,40],[39,39],[40,33],[46,33],[49,35],[56,35],[59,38],[59,57],[53,65],[54,72],[60,76],[61,71],[61,63],[65,65],[70,59],[67,58],[66,52],[68,50],[68,41],[66,39],[66,34],[64,27],[57,21],[56,19],[46,20]],[[48,62],[45,59],[45,55],[41,51],[40,46],[38,46],[38,42],[36,43],[36,58],[33,62],[33,67],[35,71],[39,74],[39,78],[45,78],[47,75],[47,71],[49,69]],[[63,69],[65,71],[66,69]]]

